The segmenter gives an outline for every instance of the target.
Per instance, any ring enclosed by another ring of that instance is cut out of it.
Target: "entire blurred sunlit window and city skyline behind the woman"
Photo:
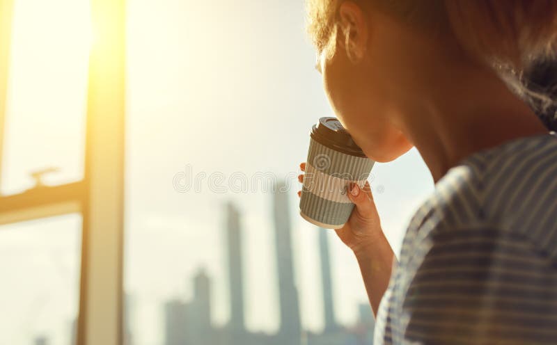
[[[334,115],[303,1],[0,4],[0,344],[372,344],[352,252],[298,215]],[[398,253],[432,179],[411,150],[370,182]]]

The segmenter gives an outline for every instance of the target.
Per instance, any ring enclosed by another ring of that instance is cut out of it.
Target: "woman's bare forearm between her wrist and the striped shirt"
[[[354,254],[360,266],[363,284],[366,286],[373,314],[377,316],[379,302],[381,302],[391,278],[393,250],[382,233],[379,241],[373,243],[373,246],[361,248]]]

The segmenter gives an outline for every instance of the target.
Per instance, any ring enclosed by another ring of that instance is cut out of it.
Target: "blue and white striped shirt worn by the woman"
[[[448,170],[411,219],[374,344],[557,344],[557,136]]]

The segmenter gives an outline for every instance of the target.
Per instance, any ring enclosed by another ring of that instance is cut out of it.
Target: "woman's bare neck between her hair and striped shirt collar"
[[[470,65],[449,73],[438,68],[423,72],[430,87],[401,102],[398,120],[435,182],[475,152],[548,132],[491,70]]]

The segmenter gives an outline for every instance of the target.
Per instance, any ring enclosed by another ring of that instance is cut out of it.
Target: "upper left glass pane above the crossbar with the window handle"
[[[2,193],[83,177],[89,23],[88,0],[14,1]]]

